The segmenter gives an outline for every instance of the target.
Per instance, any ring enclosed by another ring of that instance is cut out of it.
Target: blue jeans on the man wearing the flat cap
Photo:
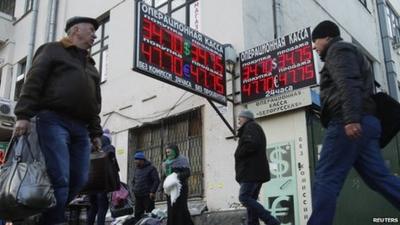
[[[87,182],[90,142],[86,124],[52,111],[37,118],[40,146],[57,200],[42,214],[41,225],[66,222],[65,207]]]

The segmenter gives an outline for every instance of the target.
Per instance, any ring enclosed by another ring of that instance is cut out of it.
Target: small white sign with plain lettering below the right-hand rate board
[[[263,117],[312,104],[310,88],[303,88],[280,95],[264,98],[247,105],[254,117]]]

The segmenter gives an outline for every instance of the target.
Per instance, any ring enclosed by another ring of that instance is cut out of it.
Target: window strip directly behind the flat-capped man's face
[[[91,48],[91,55],[94,61],[96,62],[96,68],[101,75],[101,82],[105,82],[107,80],[107,72],[108,72],[108,43],[109,43],[109,22],[110,16],[107,13],[98,19],[100,22],[100,26],[96,31],[96,42],[93,44]]]

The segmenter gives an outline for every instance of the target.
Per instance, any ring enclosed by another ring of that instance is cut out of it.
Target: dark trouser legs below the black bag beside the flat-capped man
[[[97,225],[104,225],[108,210],[107,193],[89,196],[90,207],[87,214],[87,225],[93,225],[97,215]]]

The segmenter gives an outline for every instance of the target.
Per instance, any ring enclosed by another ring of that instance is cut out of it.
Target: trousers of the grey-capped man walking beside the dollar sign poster
[[[247,225],[259,225],[261,219],[267,225],[280,224],[258,201],[262,183],[240,183],[239,201],[247,209]]]

